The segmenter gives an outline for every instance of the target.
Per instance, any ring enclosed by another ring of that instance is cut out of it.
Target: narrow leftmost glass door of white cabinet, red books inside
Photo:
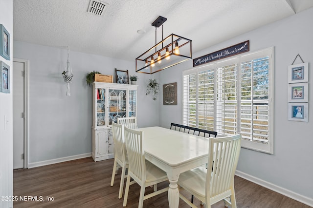
[[[106,90],[96,89],[97,91],[97,126],[106,125]]]

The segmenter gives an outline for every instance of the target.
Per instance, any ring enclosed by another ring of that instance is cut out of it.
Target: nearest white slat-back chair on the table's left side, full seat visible
[[[163,193],[169,189],[169,187],[160,190],[156,189],[156,184],[167,181],[168,179],[166,172],[145,160],[143,137],[144,132],[125,127],[125,145],[129,159],[129,169],[126,180],[123,207],[126,207],[127,205],[129,186],[134,183],[137,183],[140,186],[138,208],[142,208],[144,200]],[[132,182],[131,178],[133,178]],[[144,195],[145,188],[152,185],[154,186],[154,192]]]

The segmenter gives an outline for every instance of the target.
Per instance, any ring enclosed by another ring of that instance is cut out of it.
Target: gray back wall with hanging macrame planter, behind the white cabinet
[[[15,58],[28,59],[30,65],[29,163],[91,152],[92,88],[86,84],[86,75],[93,70],[115,75],[115,68],[133,75],[134,62],[70,51],[74,78],[69,84],[71,96],[66,96],[61,74],[67,63],[67,47],[14,41],[13,49]],[[158,125],[158,114],[151,110],[158,103],[145,95],[150,75],[138,76],[138,125]]]

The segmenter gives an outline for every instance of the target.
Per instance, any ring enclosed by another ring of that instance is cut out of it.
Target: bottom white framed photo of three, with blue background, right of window
[[[308,103],[288,103],[288,120],[308,122]]]

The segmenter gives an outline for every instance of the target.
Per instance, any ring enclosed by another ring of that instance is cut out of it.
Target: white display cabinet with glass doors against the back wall
[[[112,121],[136,116],[137,85],[93,82],[92,93],[92,158],[114,158]]]

